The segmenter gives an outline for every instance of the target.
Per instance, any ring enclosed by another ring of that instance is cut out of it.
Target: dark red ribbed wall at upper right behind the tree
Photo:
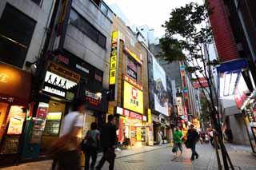
[[[214,40],[218,50],[218,57],[222,61],[238,58],[238,49],[234,41],[228,15],[223,0],[210,0],[213,14],[210,15],[210,24],[214,33]]]

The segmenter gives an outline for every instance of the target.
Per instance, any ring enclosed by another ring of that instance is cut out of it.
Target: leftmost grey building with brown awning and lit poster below
[[[30,103],[31,73],[55,1],[0,2],[0,166],[19,159]]]

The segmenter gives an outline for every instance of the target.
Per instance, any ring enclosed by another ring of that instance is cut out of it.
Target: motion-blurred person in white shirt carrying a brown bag
[[[64,117],[60,137],[50,146],[50,156],[54,157],[52,169],[58,166],[61,170],[80,170],[78,145],[81,139],[78,136],[82,132],[85,109],[84,101],[75,100],[74,112]]]

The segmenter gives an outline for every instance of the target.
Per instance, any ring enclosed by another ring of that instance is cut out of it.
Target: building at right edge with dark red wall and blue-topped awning
[[[233,133],[234,143],[250,144],[255,152],[255,19],[251,12],[255,2],[210,0],[210,6],[218,57],[223,61],[217,68],[223,129]]]

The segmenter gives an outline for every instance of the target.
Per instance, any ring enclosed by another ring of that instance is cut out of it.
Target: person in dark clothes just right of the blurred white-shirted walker
[[[90,130],[86,132],[86,136],[84,138],[84,141],[88,143],[89,148],[85,148],[83,152],[86,156],[86,162],[85,162],[85,170],[89,170],[89,166],[91,169],[94,168],[94,165],[97,160],[98,155],[98,142],[100,140],[100,132],[97,129],[97,123],[93,122],[90,125]],[[90,164],[90,157],[92,159]]]

